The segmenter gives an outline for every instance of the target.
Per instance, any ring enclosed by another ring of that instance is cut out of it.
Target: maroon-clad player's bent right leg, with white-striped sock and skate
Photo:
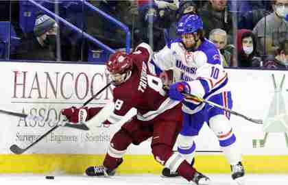
[[[177,171],[179,175],[189,182],[208,184],[208,177],[191,167],[180,153],[173,153],[172,151],[181,125],[181,123],[173,121],[159,121],[154,125],[152,138],[152,153],[154,158],[163,166],[172,171]]]

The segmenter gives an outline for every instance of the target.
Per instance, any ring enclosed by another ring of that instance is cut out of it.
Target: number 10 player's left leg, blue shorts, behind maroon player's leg
[[[178,153],[193,167],[196,145],[195,137],[204,124],[204,110],[196,114],[182,114],[183,125],[180,134],[178,135]],[[179,174],[176,171],[171,171],[168,168],[163,169],[163,177],[177,177]]]

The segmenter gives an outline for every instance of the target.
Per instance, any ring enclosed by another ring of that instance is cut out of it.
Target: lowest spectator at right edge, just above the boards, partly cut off
[[[267,69],[288,69],[288,40],[280,43],[276,56],[268,56],[263,66]]]

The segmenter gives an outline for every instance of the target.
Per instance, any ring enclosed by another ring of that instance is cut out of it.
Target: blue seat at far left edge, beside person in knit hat
[[[2,59],[8,59],[9,54],[13,53],[16,49],[16,46],[20,44],[20,38],[16,37],[14,27],[9,21],[0,21],[0,43],[0,58]],[[8,52],[9,47],[10,53]]]

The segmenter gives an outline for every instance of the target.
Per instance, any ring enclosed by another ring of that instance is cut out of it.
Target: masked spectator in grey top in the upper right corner
[[[261,55],[274,54],[280,42],[288,40],[288,0],[272,1],[274,12],[259,21],[253,29]]]

